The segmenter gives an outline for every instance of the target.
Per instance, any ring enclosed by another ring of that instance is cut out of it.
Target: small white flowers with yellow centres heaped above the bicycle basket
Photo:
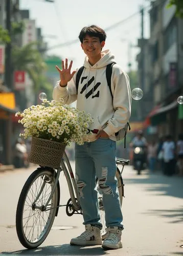
[[[61,99],[44,99],[41,105],[32,105],[22,113],[17,112],[15,116],[22,117],[19,122],[25,129],[20,136],[25,139],[38,137],[62,142],[65,145],[69,145],[70,142],[83,144],[83,138],[87,138],[88,124],[93,122],[90,114],[63,105]]]

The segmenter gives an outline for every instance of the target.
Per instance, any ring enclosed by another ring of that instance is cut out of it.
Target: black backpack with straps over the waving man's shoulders
[[[112,99],[113,99],[113,95],[112,95],[112,91],[111,91],[111,75],[112,75],[112,67],[113,67],[114,64],[116,64],[116,62],[112,62],[112,63],[110,63],[110,64],[108,64],[106,66],[107,85],[109,87]],[[77,91],[77,94],[78,94],[79,80],[81,78],[83,70],[84,70],[84,66],[79,68],[79,70],[78,70],[78,72],[76,74],[76,91]],[[118,140],[122,140],[123,138],[125,139],[124,140],[124,147],[126,147],[126,134],[127,134],[128,130],[130,131],[130,124],[129,124],[129,122],[127,122],[125,127],[123,127],[119,132],[115,133],[117,141]]]

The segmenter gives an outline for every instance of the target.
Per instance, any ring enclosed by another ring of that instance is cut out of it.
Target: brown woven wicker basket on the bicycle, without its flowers
[[[52,168],[60,167],[60,160],[65,150],[65,144],[52,140],[32,137],[29,162]]]

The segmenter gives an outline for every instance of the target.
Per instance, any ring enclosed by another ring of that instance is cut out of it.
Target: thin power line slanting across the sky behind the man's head
[[[149,7],[150,7],[150,6],[144,7],[144,10],[147,9],[147,8],[149,8]],[[112,30],[112,29],[114,29],[114,28],[120,26],[121,24],[127,22],[129,19],[133,18],[134,16],[139,15],[139,13],[140,13],[139,11],[138,11],[138,12],[135,12],[135,13],[133,13],[132,15],[128,16],[127,18],[125,18],[125,19],[121,20],[120,22],[117,22],[117,23],[115,23],[115,24],[113,24],[113,25],[107,27],[107,28],[104,29],[104,30],[105,30],[105,31]],[[63,43],[61,43],[61,44],[59,44],[59,45],[52,46],[52,47],[48,48],[47,51],[52,50],[52,49],[55,49],[55,48],[64,47],[64,46],[71,46],[71,45],[76,44],[76,42],[78,42],[78,38],[77,38],[77,39],[74,39],[74,40],[71,40],[71,41],[63,42]]]

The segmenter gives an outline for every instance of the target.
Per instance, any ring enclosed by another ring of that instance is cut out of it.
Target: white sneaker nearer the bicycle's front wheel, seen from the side
[[[85,225],[85,231],[77,238],[72,238],[71,245],[98,245],[102,244],[102,238],[100,228],[91,226],[90,224]]]

